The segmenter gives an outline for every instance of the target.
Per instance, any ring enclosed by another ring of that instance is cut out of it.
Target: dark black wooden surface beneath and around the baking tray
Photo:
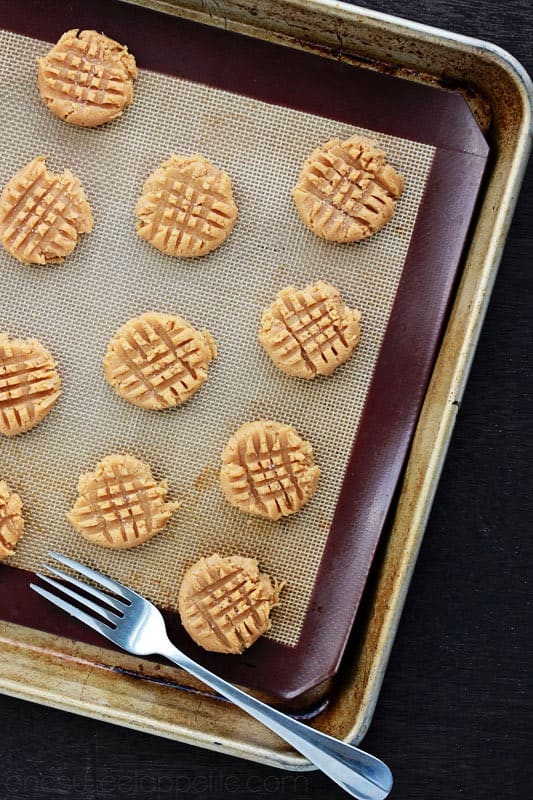
[[[533,72],[528,0],[361,5],[489,39]],[[533,796],[532,195],[530,166],[364,742],[390,764],[394,800]],[[0,729],[1,800],[346,796],[316,773],[280,772],[8,697],[0,697]]]

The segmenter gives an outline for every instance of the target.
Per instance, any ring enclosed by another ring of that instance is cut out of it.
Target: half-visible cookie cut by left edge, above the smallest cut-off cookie
[[[0,333],[0,433],[16,436],[35,427],[61,394],[56,364],[37,339]]]

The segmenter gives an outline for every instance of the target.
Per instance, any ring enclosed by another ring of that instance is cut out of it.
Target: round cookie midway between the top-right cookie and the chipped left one
[[[153,172],[137,202],[137,233],[162,253],[204,256],[235,225],[231,180],[199,155],[173,155]]]

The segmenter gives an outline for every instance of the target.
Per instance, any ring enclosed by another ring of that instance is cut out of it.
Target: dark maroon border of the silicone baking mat
[[[235,682],[295,697],[333,674],[340,661],[429,380],[487,145],[463,98],[453,93],[138,8],[98,0],[87,10],[78,0],[68,7],[29,0],[2,8],[0,25],[49,40],[69,27],[102,28],[127,41],[142,66],[438,147],[297,647],[260,640],[239,659],[210,656],[169,619],[176,643],[206,666]],[[183,47],[171,46],[175,37]],[[199,58],[205,52],[210,57]],[[266,63],[268,70],[257,70]],[[291,81],[280,80],[281,73]],[[365,100],[357,107],[349,102],[355,90]],[[10,621],[101,644],[34,596],[28,573],[9,572],[10,579],[0,581],[0,602]]]

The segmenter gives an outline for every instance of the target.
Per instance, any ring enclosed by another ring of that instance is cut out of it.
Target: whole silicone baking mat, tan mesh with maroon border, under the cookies
[[[98,8],[103,17],[102,4]],[[52,169],[68,167],[79,176],[95,216],[94,232],[82,238],[64,264],[33,268],[0,254],[0,328],[40,338],[56,357],[63,380],[63,395],[46,421],[0,445],[2,476],[20,491],[27,520],[10,564],[31,572],[55,548],[130,584],[172,612],[183,571],[198,557],[215,550],[255,556],[262,568],[287,583],[268,638],[235,659],[199,652],[171,618],[172,633],[180,646],[227,676],[291,696],[331,674],[338,664],[423,397],[458,262],[455,240],[444,250],[442,263],[431,253],[432,232],[438,237],[442,224],[442,217],[436,222],[429,214],[435,208],[435,190],[441,195],[446,227],[455,226],[462,243],[464,219],[469,219],[482,169],[476,166],[462,179],[468,152],[456,152],[449,163],[437,166],[451,128],[443,134],[436,125],[437,148],[427,130],[418,136],[409,104],[399,102],[407,91],[401,81],[391,87],[396,91],[388,92],[387,101],[387,91],[376,94],[371,84],[385,81],[386,89],[392,79],[374,76],[368,85],[366,78],[352,84],[356,73],[344,65],[276,48],[279,59],[269,59],[268,69],[279,65],[293,77],[296,88],[289,91],[275,76],[234,63],[242,59],[249,67],[261,48],[271,56],[271,45],[234,37],[237,49],[231,35],[222,31],[128,9],[130,21],[137,21],[128,28],[132,40],[126,29],[120,36],[126,9],[105,9],[106,21],[113,20],[106,33],[128,43],[141,56],[141,65],[144,58],[160,69],[168,56],[168,71],[181,77],[142,69],[134,104],[122,118],[99,129],[65,125],[42,104],[35,60],[49,44],[0,34],[6,142],[0,182],[35,155],[46,155]],[[151,19],[157,33],[145,35],[141,14],[143,20]],[[183,36],[179,58],[174,56],[173,30]],[[209,58],[199,57],[202,52]],[[311,72],[287,71],[284,61],[290,58]],[[335,80],[329,86],[328,70]],[[256,80],[255,75],[261,77]],[[197,78],[252,96],[204,85]],[[459,99],[419,88],[428,98],[439,96],[443,106],[450,98]],[[354,102],[357,90],[361,98],[367,93],[361,108]],[[411,86],[409,91],[416,93]],[[276,92],[279,103],[272,102]],[[285,104],[284,92],[292,92],[294,107]],[[384,103],[382,114],[375,111],[379,102]],[[327,109],[328,103],[335,106],[337,121],[316,113],[317,105]],[[366,120],[366,127],[349,124],[349,119]],[[323,242],[305,228],[290,190],[316,145],[353,133],[371,135],[386,150],[404,174],[405,192],[382,232],[342,246]],[[474,140],[475,131],[468,136]],[[239,207],[228,241],[193,261],[160,254],[134,229],[142,184],[172,152],[200,152],[224,168]],[[457,192],[449,191],[450,183],[459,187]],[[461,218],[456,203],[461,204]],[[449,211],[451,218],[446,217]],[[280,288],[320,278],[334,283],[346,302],[361,310],[362,340],[355,356],[331,378],[304,382],[271,364],[257,342],[257,329],[262,309]],[[409,291],[411,304],[406,302]],[[146,310],[181,314],[196,327],[209,329],[217,341],[219,356],[207,384],[183,408],[145,412],[126,404],[105,383],[101,360],[110,337],[128,318]],[[218,485],[220,452],[228,437],[242,422],[260,416],[292,423],[312,442],[322,472],[312,502],[278,523],[242,515],[227,504]],[[157,478],[169,480],[170,497],[183,502],[161,534],[122,552],[90,545],[64,517],[76,498],[79,474],[117,451],[149,462]],[[355,520],[357,513],[364,515],[363,521]],[[24,622],[44,629],[49,625],[42,608]],[[79,635],[87,633],[80,628]]]

